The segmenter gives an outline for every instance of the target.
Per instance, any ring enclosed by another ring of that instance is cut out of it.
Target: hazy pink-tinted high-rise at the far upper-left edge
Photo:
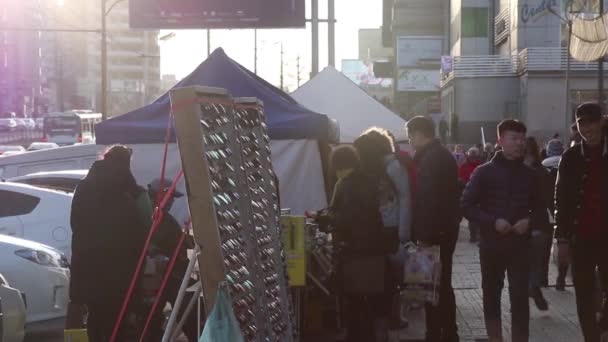
[[[14,30],[27,22],[45,24],[40,0],[3,2],[0,26],[0,111],[29,116],[45,110],[47,80],[43,74],[44,36],[32,30]]]

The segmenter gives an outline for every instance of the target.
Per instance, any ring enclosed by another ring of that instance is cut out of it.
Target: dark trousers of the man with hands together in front
[[[505,272],[509,278],[513,342],[528,341],[530,307],[528,302],[529,246],[527,244],[481,248],[483,314],[490,338],[502,339],[501,295]]]

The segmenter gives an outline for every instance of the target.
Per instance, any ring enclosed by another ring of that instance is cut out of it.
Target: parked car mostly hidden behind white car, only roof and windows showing
[[[80,181],[87,176],[87,173],[89,173],[89,170],[37,172],[9,178],[7,181],[73,193]]]

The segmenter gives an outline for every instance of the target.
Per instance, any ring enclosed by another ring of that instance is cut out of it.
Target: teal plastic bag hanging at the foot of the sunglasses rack
[[[199,342],[243,342],[239,322],[234,316],[227,285],[220,284],[211,314],[207,318]]]

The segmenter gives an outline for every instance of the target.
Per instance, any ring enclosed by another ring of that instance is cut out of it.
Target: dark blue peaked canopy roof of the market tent
[[[233,97],[256,97],[261,100],[272,140],[328,140],[330,130],[327,116],[298,104],[291,96],[232,60],[221,48],[174,88],[195,85],[225,88]],[[97,144],[163,143],[170,106],[167,92],[145,107],[97,124]],[[171,139],[175,141],[173,134]]]

